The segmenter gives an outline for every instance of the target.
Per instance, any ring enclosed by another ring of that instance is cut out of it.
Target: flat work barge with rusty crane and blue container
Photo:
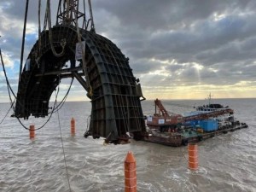
[[[144,141],[179,147],[228,131],[247,128],[247,124],[234,118],[233,109],[224,108],[220,104],[209,103],[186,115],[170,115],[159,99],[154,104],[154,115],[147,117],[148,134],[143,136]]]

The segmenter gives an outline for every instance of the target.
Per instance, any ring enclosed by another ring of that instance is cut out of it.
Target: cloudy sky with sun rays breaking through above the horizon
[[[38,1],[30,2],[25,58],[38,36]],[[55,12],[58,1],[52,2]],[[256,1],[91,2],[96,32],[130,58],[147,99],[204,99],[210,92],[215,98],[255,97]],[[25,4],[25,0],[0,2],[0,47],[15,90]],[[63,94],[68,84],[62,82]],[[84,101],[85,95],[75,82],[68,99]],[[2,66],[0,102],[8,102]]]

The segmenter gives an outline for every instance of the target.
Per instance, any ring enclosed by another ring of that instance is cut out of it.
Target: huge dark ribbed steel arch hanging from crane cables
[[[79,42],[77,29],[74,26],[54,26],[51,28],[52,44],[55,52],[64,54],[55,56],[50,46],[49,31],[41,33],[40,41],[34,44],[20,77],[15,116],[25,119],[30,115],[47,116],[49,98],[61,79],[75,77],[91,99],[90,135],[106,137],[112,142],[127,138],[126,132],[133,132],[139,137],[145,131],[140,101],[143,95],[129,66],[129,59],[108,38],[93,31],[79,30],[86,44],[84,61],[89,82],[82,77],[82,61],[79,66],[75,65],[75,49]],[[70,61],[70,67],[63,69],[67,61]]]

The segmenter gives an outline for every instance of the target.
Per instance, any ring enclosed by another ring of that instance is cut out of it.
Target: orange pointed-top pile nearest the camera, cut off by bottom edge
[[[137,192],[136,160],[131,151],[125,158],[125,192]]]

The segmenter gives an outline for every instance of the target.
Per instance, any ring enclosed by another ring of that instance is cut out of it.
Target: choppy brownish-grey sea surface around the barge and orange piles
[[[131,141],[103,145],[103,139],[84,138],[90,102],[66,102],[54,113],[34,141],[20,123],[8,117],[0,125],[0,191],[124,191],[124,160],[129,150],[137,160],[137,191],[256,191],[256,99],[214,100],[235,110],[248,129],[199,143],[199,170],[188,169],[187,147]],[[193,110],[205,101],[163,101],[175,113]],[[0,122],[9,103],[0,103]],[[154,113],[154,102],[143,102],[143,113]],[[70,136],[70,119],[76,135]],[[43,125],[45,119],[22,120]],[[62,137],[61,137],[62,136]],[[61,144],[63,141],[67,170]],[[68,175],[68,178],[67,178]]]

